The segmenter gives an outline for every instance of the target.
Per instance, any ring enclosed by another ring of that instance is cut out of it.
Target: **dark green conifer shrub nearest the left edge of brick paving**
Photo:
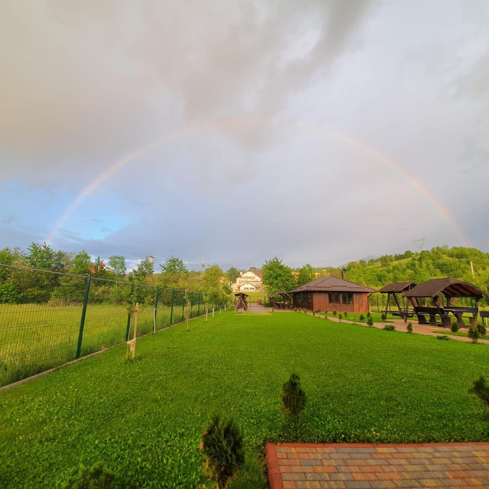
[[[225,489],[227,482],[244,463],[243,434],[231,419],[221,422],[214,416],[202,435],[200,450],[205,456],[205,468],[217,489]]]

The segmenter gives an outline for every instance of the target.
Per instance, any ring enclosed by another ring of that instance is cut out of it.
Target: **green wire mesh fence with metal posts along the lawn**
[[[0,386],[205,311],[201,292],[0,265]]]

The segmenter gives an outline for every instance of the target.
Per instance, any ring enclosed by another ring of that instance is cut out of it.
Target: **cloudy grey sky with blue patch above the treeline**
[[[4,0],[0,248],[487,251],[488,25],[486,0]]]

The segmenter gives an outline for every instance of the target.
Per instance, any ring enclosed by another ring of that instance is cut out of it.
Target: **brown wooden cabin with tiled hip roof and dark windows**
[[[373,292],[377,290],[346,280],[343,271],[343,278],[318,278],[289,294],[295,307],[310,311],[368,312],[368,298]]]

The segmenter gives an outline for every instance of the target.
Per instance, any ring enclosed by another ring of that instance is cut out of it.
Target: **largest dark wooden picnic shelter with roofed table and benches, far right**
[[[443,295],[442,295],[443,294]],[[438,278],[423,282],[416,287],[404,292],[404,297],[409,300],[413,306],[414,312],[418,317],[419,324],[435,324],[450,327],[450,313],[457,318],[457,323],[460,328],[466,328],[463,317],[468,314],[470,326],[477,325],[477,316],[479,313],[479,302],[487,294],[482,290],[477,289],[468,282],[456,280],[454,278]],[[446,298],[446,304],[443,303],[443,297]],[[422,306],[420,298],[431,298],[433,306]],[[460,307],[452,306],[452,299],[459,297],[469,297],[475,299],[475,307]],[[436,316],[440,316],[440,321]]]

